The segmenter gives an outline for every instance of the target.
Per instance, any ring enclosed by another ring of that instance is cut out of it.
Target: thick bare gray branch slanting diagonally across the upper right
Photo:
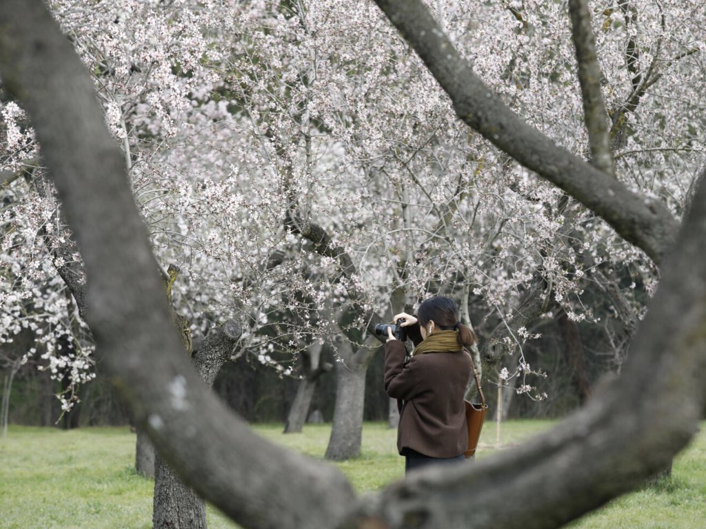
[[[439,85],[457,116],[517,162],[592,209],[659,265],[678,223],[661,202],[579,159],[508,109],[474,74],[421,0],[376,0]]]

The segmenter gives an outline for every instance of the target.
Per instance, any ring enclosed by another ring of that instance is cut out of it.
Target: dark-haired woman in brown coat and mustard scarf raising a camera
[[[406,360],[405,344],[388,328],[385,343],[385,391],[401,403],[397,450],[405,456],[405,473],[430,463],[464,461],[468,432],[463,398],[472,375],[466,350],[477,342],[474,332],[458,321],[450,298],[425,300],[417,316],[405,312],[407,336],[414,343]]]

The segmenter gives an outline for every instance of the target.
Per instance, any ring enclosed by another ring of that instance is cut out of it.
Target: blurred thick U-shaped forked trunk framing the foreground
[[[32,119],[76,233],[99,354],[164,457],[240,525],[556,528],[640,485],[693,436],[706,402],[705,186],[662,266],[621,379],[502,457],[429,469],[355,502],[338,470],[253,434],[181,353],[120,152],[88,74],[40,0],[0,4],[0,76]]]

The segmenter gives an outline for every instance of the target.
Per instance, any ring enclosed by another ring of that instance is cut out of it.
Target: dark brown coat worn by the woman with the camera
[[[408,328],[415,345],[421,341],[419,326]],[[404,407],[397,429],[397,450],[412,449],[426,456],[460,456],[468,447],[463,404],[472,373],[470,355],[424,353],[405,363],[405,344],[385,343],[385,391],[402,399]]]

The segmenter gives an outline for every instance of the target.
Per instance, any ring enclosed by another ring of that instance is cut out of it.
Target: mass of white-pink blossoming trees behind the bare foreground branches
[[[563,415],[620,370],[656,267],[469,132],[371,2],[49,5],[95,81],[157,259],[181,269],[174,306],[195,350],[218,322],[244,322],[215,389],[248,420],[287,418],[318,346],[335,366],[361,351],[355,406],[385,420],[366,328],[435,293],[463,302],[510,416]],[[431,6],[511,109],[587,155],[565,4]],[[703,7],[592,8],[617,178],[681,217],[703,164]],[[32,128],[1,105],[5,416],[125,422],[66,287],[80,261]],[[308,412],[332,420],[334,377],[316,380]]]

